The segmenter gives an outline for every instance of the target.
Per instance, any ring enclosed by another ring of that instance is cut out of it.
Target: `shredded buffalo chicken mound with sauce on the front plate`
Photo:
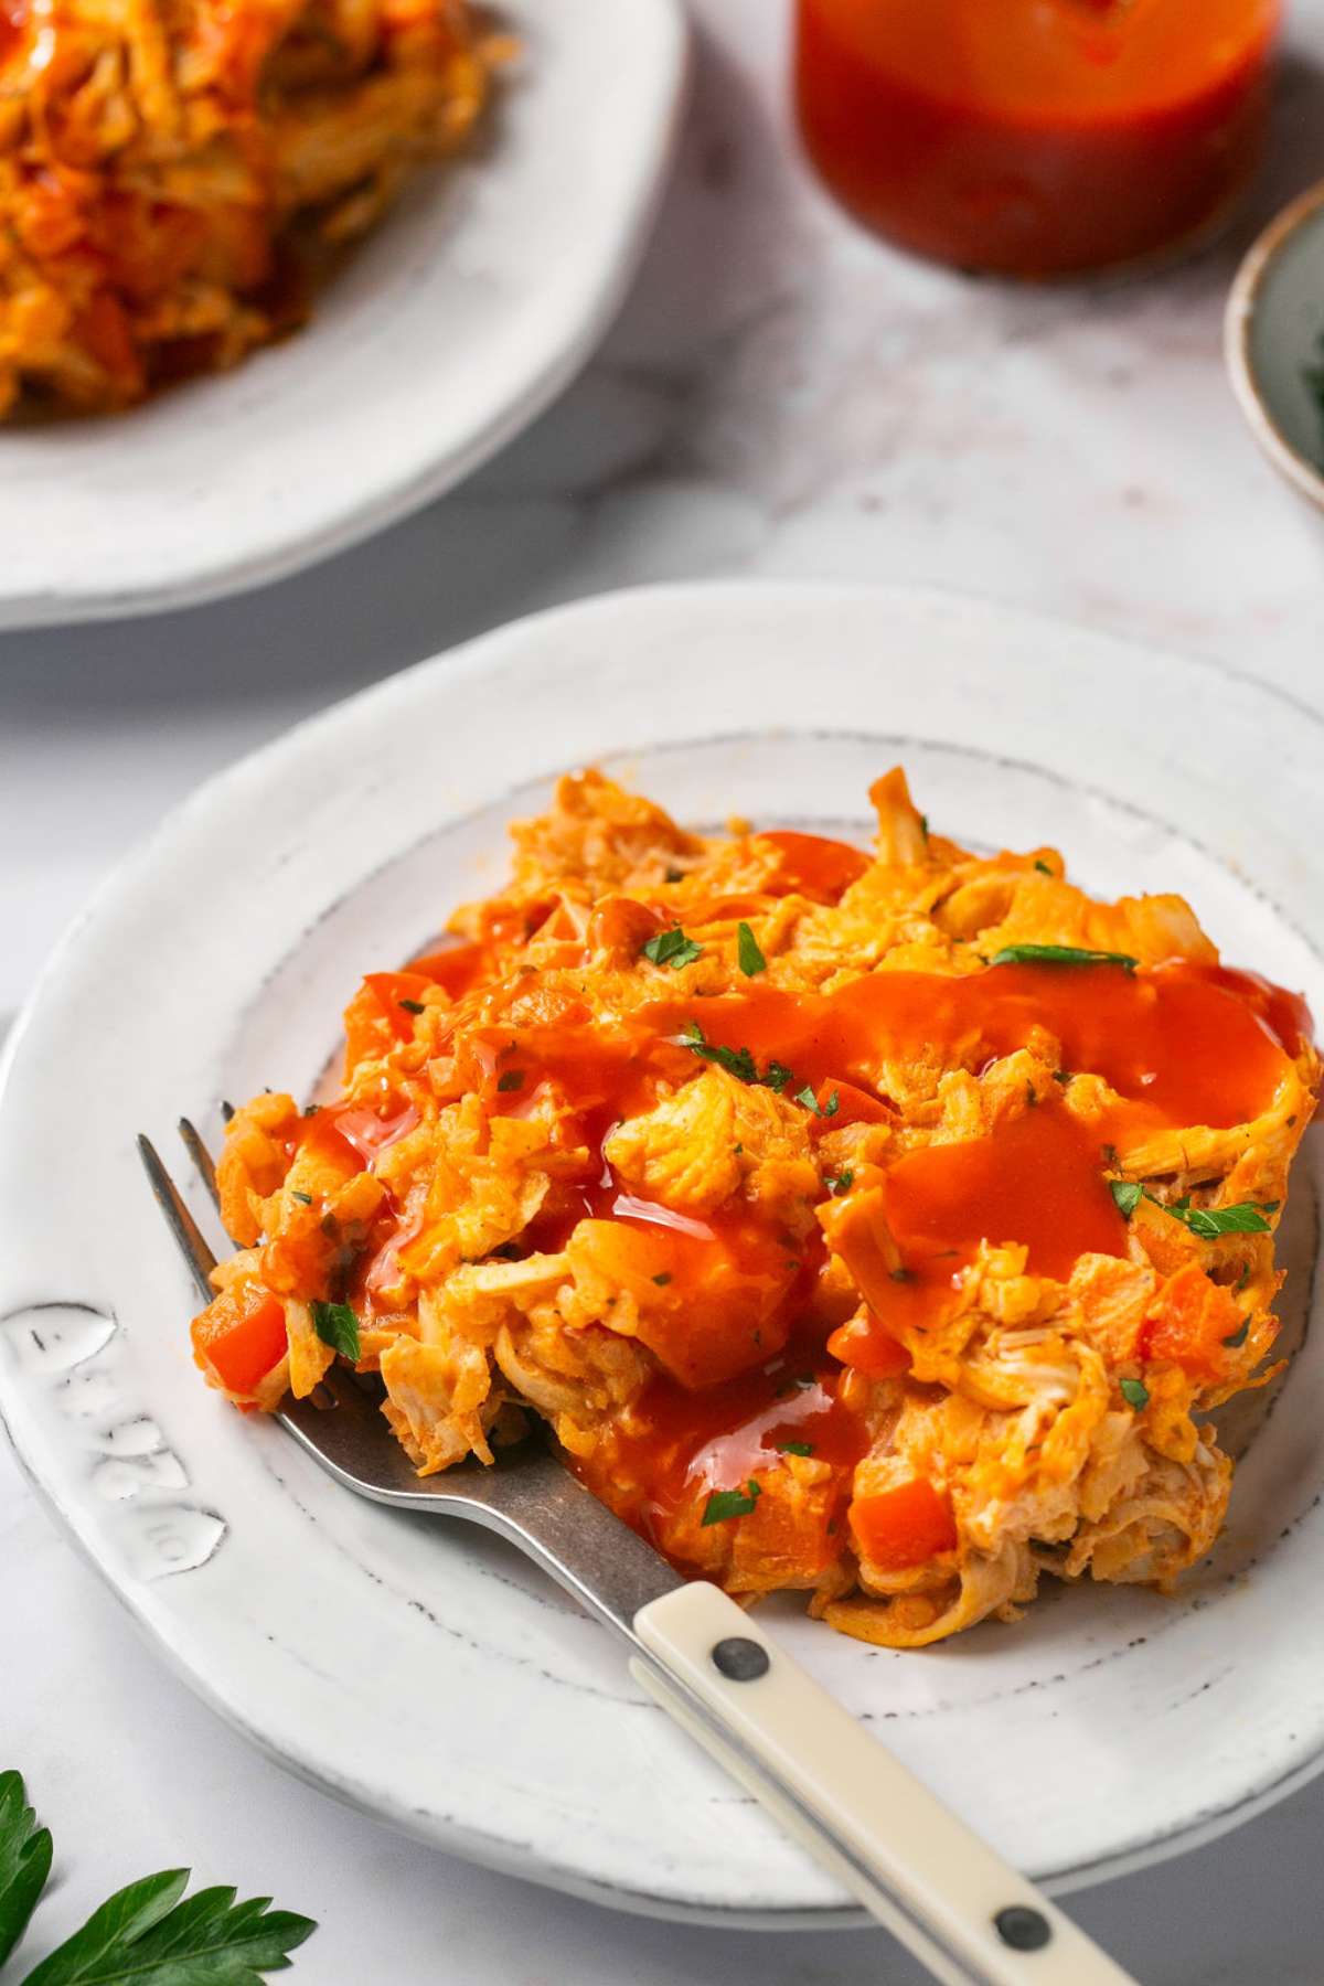
[[[343,1090],[228,1124],[206,1378],[270,1410],[349,1358],[423,1474],[542,1418],[683,1571],[885,1646],[1199,1559],[1304,1001],[1177,896],[871,796],[867,856],[564,779],[506,890],[363,979]]]

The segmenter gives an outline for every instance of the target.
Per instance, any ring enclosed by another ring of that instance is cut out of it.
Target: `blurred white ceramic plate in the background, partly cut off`
[[[568,383],[643,246],[679,0],[508,0],[490,139],[419,177],[312,322],[131,413],[0,429],[0,628],[274,580],[459,483]]]

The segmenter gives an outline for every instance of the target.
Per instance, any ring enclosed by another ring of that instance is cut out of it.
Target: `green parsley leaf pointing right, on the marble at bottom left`
[[[270,1897],[234,1903],[232,1889],[181,1901],[187,1883],[187,1869],[163,1869],[115,1891],[26,1986],[252,1986],[260,1972],[284,1972],[286,1954],[318,1928],[272,1911]]]

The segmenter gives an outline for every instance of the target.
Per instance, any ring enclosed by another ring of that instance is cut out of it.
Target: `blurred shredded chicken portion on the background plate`
[[[468,0],[0,0],[0,415],[292,330],[504,52]]]

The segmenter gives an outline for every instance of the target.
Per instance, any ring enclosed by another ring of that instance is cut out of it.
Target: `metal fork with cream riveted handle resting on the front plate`
[[[216,1207],[202,1138],[179,1132]],[[139,1152],[204,1303],[216,1257],[155,1146]],[[721,1587],[685,1581],[530,1438],[494,1468],[417,1476],[375,1400],[331,1366],[276,1416],[345,1490],[508,1539],[625,1644],[635,1680],[943,1986],[1122,1986],[1062,1911],[951,1813]],[[1133,1982],[1131,1982],[1133,1986]]]

